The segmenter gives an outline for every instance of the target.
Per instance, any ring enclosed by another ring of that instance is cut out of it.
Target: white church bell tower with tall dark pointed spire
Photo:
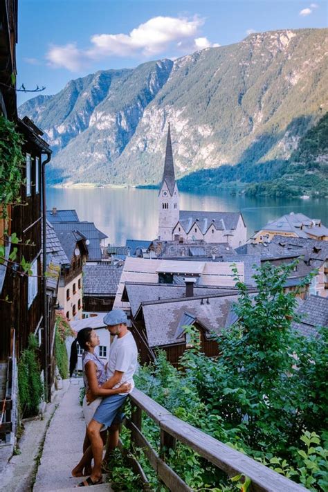
[[[172,230],[179,222],[179,190],[175,181],[170,123],[167,130],[165,163],[158,193],[158,239],[171,241]]]

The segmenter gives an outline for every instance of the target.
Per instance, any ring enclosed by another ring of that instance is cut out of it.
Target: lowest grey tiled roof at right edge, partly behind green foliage
[[[328,327],[328,298],[319,295],[310,295],[300,302],[297,311],[301,318],[300,323],[293,323],[293,328],[304,336],[318,334],[317,327]]]

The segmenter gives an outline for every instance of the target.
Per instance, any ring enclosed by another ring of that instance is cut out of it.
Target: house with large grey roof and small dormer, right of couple
[[[187,327],[197,330],[201,350],[208,357],[219,356],[217,336],[237,320],[234,291],[188,298],[141,302],[131,323],[140,362],[154,361],[156,349],[163,349],[167,360],[177,365],[185,349],[192,347]],[[163,322],[165,320],[165,322]]]

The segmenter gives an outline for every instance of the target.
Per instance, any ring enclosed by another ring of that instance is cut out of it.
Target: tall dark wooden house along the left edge
[[[17,117],[15,49],[17,43],[17,2],[0,2],[0,116],[16,126],[24,144],[19,204],[10,203],[5,214],[1,207],[0,246],[0,407],[3,410],[0,444],[15,443],[17,421],[17,361],[34,334],[39,340],[45,399],[51,397],[53,353],[46,304],[46,242],[42,246],[46,200],[45,168],[51,149],[33,121]],[[10,145],[10,141],[8,143]],[[11,200],[12,201],[12,200]],[[6,215],[7,214],[7,215]],[[19,244],[16,245],[16,239]],[[15,259],[10,253],[17,248]],[[24,269],[24,264],[29,268]]]

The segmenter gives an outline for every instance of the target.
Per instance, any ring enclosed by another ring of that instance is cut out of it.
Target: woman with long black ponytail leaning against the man
[[[92,328],[84,328],[78,332],[77,338],[74,340],[71,347],[71,358],[70,358],[70,375],[72,376],[75,369],[76,363],[78,362],[78,349],[77,343],[84,349],[82,355],[82,369],[83,369],[83,379],[86,392],[90,392],[93,397],[96,397],[92,403],[86,401],[86,397],[83,399],[83,413],[84,419],[86,421],[86,426],[93,418],[95,410],[100,405],[103,397],[109,397],[111,394],[127,393],[131,389],[131,385],[128,383],[123,383],[119,388],[115,390],[104,390],[101,385],[107,381],[107,365],[104,365],[102,360],[95,354],[95,347],[98,347],[100,340],[98,335]],[[119,422],[114,422],[109,429],[109,448],[113,450],[118,444],[118,429]],[[102,439],[105,443],[107,428],[102,428]],[[75,468],[72,470],[73,477],[82,477],[84,475],[89,475],[91,471],[91,460],[92,460],[92,450],[87,434],[84,437],[83,443],[83,456],[80,459]],[[84,470],[84,473],[83,473]],[[100,482],[99,482],[100,483]]]

